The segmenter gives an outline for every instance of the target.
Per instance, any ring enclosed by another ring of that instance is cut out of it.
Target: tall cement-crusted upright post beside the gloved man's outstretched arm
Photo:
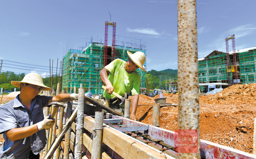
[[[83,126],[84,126],[84,89],[83,89],[83,83],[80,83],[80,89],[78,90],[78,109],[77,109],[77,115],[76,115],[75,159],[82,158]]]

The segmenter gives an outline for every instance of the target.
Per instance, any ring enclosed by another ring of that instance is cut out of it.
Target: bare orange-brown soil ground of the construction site
[[[233,85],[215,95],[200,96],[200,138],[252,153],[253,126],[256,114],[256,83]],[[178,95],[163,93],[166,103],[178,104]],[[6,103],[15,96],[3,96]],[[131,97],[130,97],[131,98]],[[156,97],[140,94],[139,105],[152,105]],[[132,103],[132,102],[131,102]],[[152,124],[152,106],[138,106],[138,119]],[[160,108],[160,128],[178,129],[178,107]],[[3,134],[0,142],[4,142]]]

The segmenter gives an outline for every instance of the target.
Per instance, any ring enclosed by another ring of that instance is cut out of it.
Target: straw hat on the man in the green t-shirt
[[[131,53],[127,51],[129,58],[134,62],[140,69],[146,71],[146,68],[143,66],[144,62],[146,61],[146,56],[143,52],[135,52]]]

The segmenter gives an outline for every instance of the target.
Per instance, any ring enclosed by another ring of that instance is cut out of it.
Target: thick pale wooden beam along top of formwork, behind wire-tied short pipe
[[[103,124],[105,125],[105,124]],[[91,117],[84,117],[84,128],[92,132],[94,127],[94,119]],[[103,148],[108,154],[111,154],[113,158],[117,156],[123,158],[140,158],[140,159],[165,159],[165,155],[156,152],[154,149],[143,145],[135,139],[131,139],[123,133],[116,131],[112,128],[103,129],[102,142],[105,144]],[[115,155],[113,155],[115,154]]]

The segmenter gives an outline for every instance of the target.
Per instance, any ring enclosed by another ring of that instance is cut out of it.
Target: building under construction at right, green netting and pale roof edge
[[[256,81],[256,48],[226,53],[214,50],[198,60],[200,91],[209,92],[233,84],[249,84]],[[236,56],[236,62],[234,62]],[[228,57],[228,58],[227,58]],[[227,64],[229,59],[229,65]]]

